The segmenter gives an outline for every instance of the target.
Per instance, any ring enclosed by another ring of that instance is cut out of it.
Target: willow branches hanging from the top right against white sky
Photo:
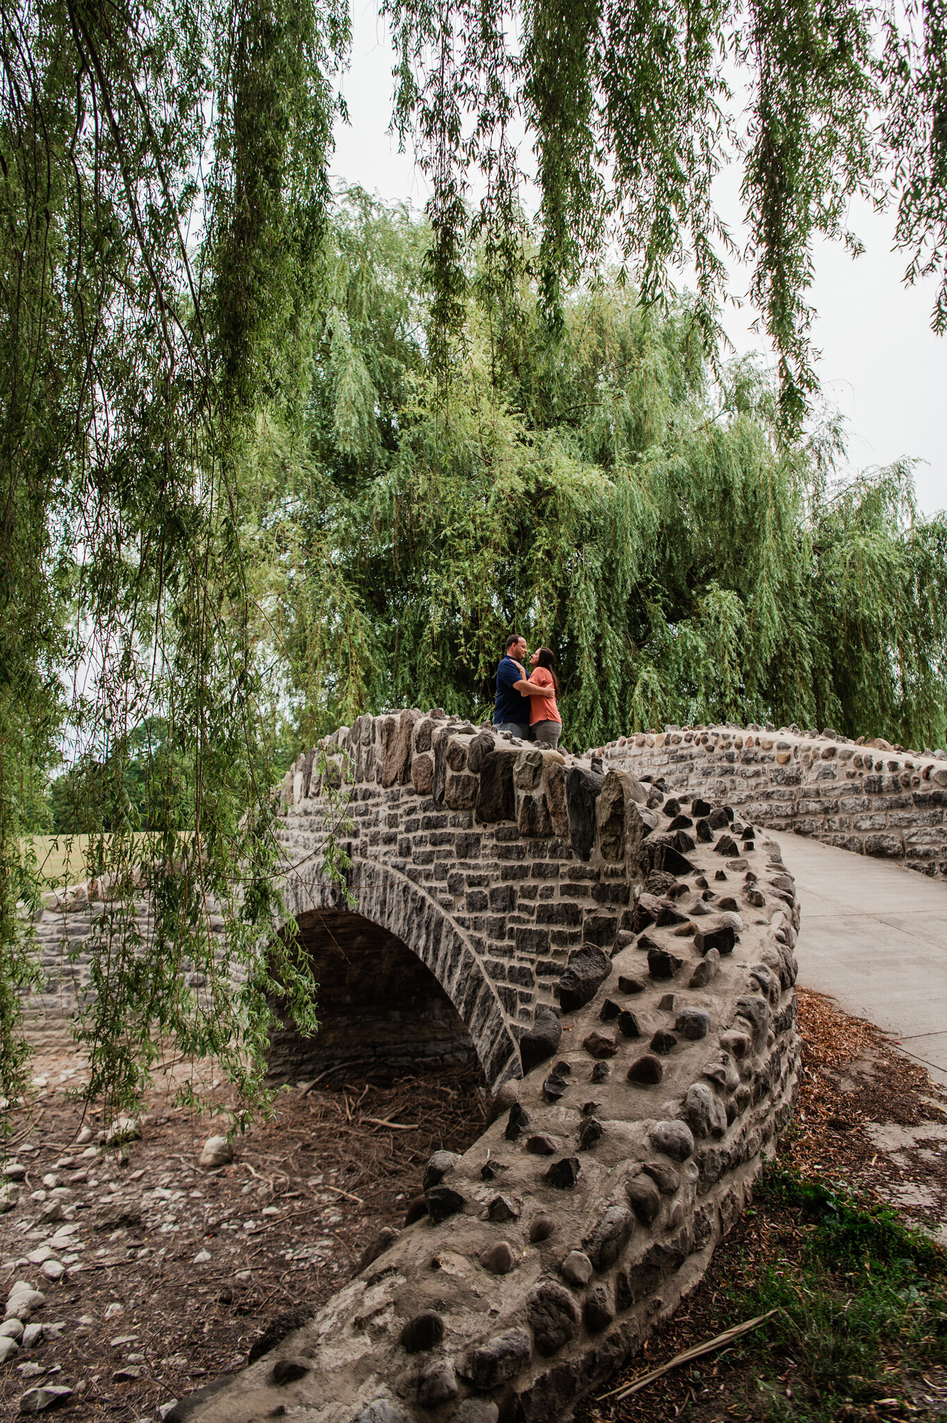
[[[384,0],[400,54],[397,118],[431,182],[435,359],[459,336],[469,242],[510,273],[525,164],[536,157],[540,306],[616,243],[647,302],[690,265],[708,347],[734,239],[712,181],[742,165],[751,299],[779,359],[781,420],[816,390],[808,340],[813,238],[843,239],[853,194],[897,201],[909,279],[941,277],[947,329],[944,0]],[[471,174],[482,198],[469,211]]]

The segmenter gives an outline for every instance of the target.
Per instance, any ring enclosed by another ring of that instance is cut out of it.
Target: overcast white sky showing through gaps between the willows
[[[361,184],[387,202],[422,208],[428,189],[411,154],[400,154],[387,134],[394,54],[374,0],[354,0],[351,68],[344,80],[350,125],[336,131],[333,172]],[[737,226],[738,174],[719,184],[722,215]],[[852,260],[842,248],[819,243],[812,302],[813,342],[822,351],[819,374],[826,396],[842,410],[853,468],[914,457],[917,494],[926,514],[947,507],[947,340],[930,330],[936,283],[904,287],[907,259],[892,252],[893,218],[866,205],[850,225],[866,252]],[[745,289],[734,273],[732,289]],[[749,332],[754,313],[728,309],[724,326],[738,351],[761,350]]]

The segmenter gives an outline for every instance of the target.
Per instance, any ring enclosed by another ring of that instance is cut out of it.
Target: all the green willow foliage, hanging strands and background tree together
[[[64,751],[111,895],[78,1030],[115,1104],[168,1035],[259,1096],[267,995],[314,1023],[274,939],[280,758],[384,703],[483,709],[510,620],[556,647],[573,741],[765,712],[943,734],[943,525],[907,467],[832,487],[806,343],[852,194],[899,203],[909,276],[943,272],[943,0],[385,13],[425,221],[333,203],[341,0],[0,6],[9,1099],[23,837]],[[776,390],[717,342],[729,151]]]

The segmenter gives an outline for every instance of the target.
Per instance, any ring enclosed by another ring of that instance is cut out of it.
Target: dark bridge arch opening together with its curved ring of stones
[[[320,1029],[282,1022],[269,1076],[301,1081],[353,1064],[419,1067],[479,1060],[488,1086],[520,1074],[503,1006],[451,915],[410,881],[355,865],[355,906],[320,877],[290,888],[299,943],[319,985]]]

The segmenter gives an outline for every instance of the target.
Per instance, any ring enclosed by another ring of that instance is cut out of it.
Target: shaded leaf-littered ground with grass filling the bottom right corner
[[[890,1207],[779,1165],[764,1170],[700,1288],[609,1387],[769,1311],[727,1350],[624,1400],[589,1399],[577,1423],[947,1417],[944,1252]],[[924,1375],[936,1376],[931,1385]]]

